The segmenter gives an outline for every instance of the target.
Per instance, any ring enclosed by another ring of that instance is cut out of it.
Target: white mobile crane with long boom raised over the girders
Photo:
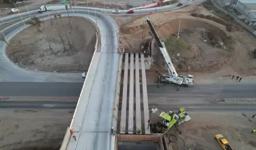
[[[169,74],[161,74],[159,76],[160,82],[175,83],[178,85],[185,85],[185,86],[193,86],[194,84],[193,75],[189,74],[188,77],[184,77],[176,73],[176,70],[173,67],[172,61],[170,60],[170,56],[166,50],[166,47],[163,41],[161,41],[160,38],[158,37],[157,32],[155,31],[155,28],[151,23],[151,20],[149,19],[149,17],[146,17],[144,21],[148,23],[149,28],[151,29],[151,32],[154,35],[155,41],[157,41],[159,49],[164,57],[164,60],[168,68]]]

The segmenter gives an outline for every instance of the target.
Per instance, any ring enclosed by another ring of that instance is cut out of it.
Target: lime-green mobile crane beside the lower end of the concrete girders
[[[162,118],[161,121],[153,125],[157,133],[168,133],[173,125],[178,127],[178,125],[183,124],[184,122],[191,119],[183,107],[181,107],[178,112],[164,112],[157,109],[157,107],[153,107],[151,109],[151,113],[156,113]]]

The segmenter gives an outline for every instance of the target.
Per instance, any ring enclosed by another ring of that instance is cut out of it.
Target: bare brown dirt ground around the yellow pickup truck
[[[190,112],[189,115],[192,120],[179,127],[181,134],[170,133],[179,136],[176,143],[170,143],[175,149],[183,149],[186,145],[190,149],[220,150],[222,148],[214,139],[216,134],[222,134],[234,149],[256,148],[256,135],[251,134],[255,122],[249,122],[241,113]]]

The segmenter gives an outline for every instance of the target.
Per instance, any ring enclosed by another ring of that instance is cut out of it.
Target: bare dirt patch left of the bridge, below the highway
[[[0,111],[0,149],[57,150],[73,110]]]

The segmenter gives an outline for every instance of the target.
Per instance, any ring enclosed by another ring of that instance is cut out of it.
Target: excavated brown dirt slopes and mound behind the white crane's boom
[[[255,37],[248,32],[228,32],[226,27],[217,22],[192,17],[191,13],[209,14],[211,12],[199,5],[192,5],[180,10],[154,13],[140,17],[114,17],[120,26],[126,51],[139,49],[142,42],[143,18],[149,17],[164,41],[170,35],[177,35],[181,20],[180,40],[186,41],[185,51],[171,53],[173,64],[178,72],[190,71],[199,73],[215,73],[222,71],[222,76],[230,72],[240,76],[254,76],[256,74],[256,59],[253,58]],[[227,49],[213,47],[207,32],[220,37]],[[207,42],[202,40],[207,38]],[[151,38],[148,25],[146,25],[145,38]],[[176,56],[180,53],[180,56]],[[163,61],[161,61],[163,62]],[[166,71],[164,63],[158,63],[160,70]],[[228,71],[227,71],[228,70]]]

